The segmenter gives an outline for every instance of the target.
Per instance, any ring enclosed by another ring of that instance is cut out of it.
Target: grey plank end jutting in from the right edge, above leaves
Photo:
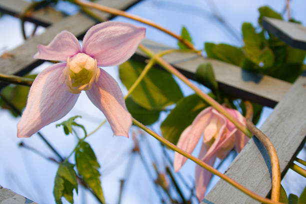
[[[292,47],[306,49],[306,27],[294,22],[264,17],[262,26]]]

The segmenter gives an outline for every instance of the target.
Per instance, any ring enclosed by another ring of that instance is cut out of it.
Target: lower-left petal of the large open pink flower
[[[63,117],[75,104],[78,94],[67,91],[58,80],[66,63],[41,71],[29,90],[25,109],[17,124],[17,136],[29,137],[41,127]]]

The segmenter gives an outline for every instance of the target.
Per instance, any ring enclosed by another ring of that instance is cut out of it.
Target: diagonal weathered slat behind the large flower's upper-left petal
[[[118,9],[126,9],[138,1],[139,0],[99,0],[97,2],[103,3],[106,6],[113,6]],[[109,19],[111,17],[110,14],[105,12],[99,12],[99,14],[105,19]],[[75,36],[81,36],[89,27],[95,23],[96,22],[92,18],[89,18],[80,13],[74,16],[61,18],[61,20],[58,22],[47,27],[42,34],[36,35],[26,40],[22,45],[7,51],[13,57],[0,58],[0,72],[16,75],[25,74],[43,62],[42,60],[33,58],[33,55],[37,52],[37,44],[48,44],[53,39],[53,37],[62,30],[68,30]]]

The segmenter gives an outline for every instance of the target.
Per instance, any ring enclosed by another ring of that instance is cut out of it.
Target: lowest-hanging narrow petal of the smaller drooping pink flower
[[[215,161],[215,156],[213,155],[209,159],[203,160],[203,157],[205,156],[207,152],[206,150],[207,149],[205,145],[203,144],[201,146],[201,150],[198,155],[198,158],[204,161],[205,163],[207,163],[208,165],[212,166]],[[212,177],[212,173],[210,171],[206,170],[205,168],[199,165],[195,166],[195,179],[194,179],[195,180],[195,195],[199,201],[201,201],[204,198],[205,191],[207,189],[207,186],[209,184],[211,177]]]

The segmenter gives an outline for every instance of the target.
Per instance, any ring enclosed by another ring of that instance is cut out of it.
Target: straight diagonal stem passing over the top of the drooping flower
[[[244,134],[248,137],[252,137],[252,133],[239,122],[235,117],[233,117],[226,109],[220,105],[217,101],[211,98],[209,95],[204,93],[201,89],[196,87],[188,78],[186,78],[182,73],[180,73],[176,68],[171,66],[168,62],[163,60],[160,56],[155,55],[151,50],[145,47],[143,44],[139,44],[138,46],[143,52],[145,52],[149,57],[155,56],[155,60],[158,64],[160,64],[164,69],[168,70],[170,73],[176,75],[179,79],[181,79],[185,84],[187,84],[190,88],[192,88],[202,99],[204,99],[207,103],[212,105],[215,109],[221,112],[225,117],[227,117],[238,129],[240,129]]]

